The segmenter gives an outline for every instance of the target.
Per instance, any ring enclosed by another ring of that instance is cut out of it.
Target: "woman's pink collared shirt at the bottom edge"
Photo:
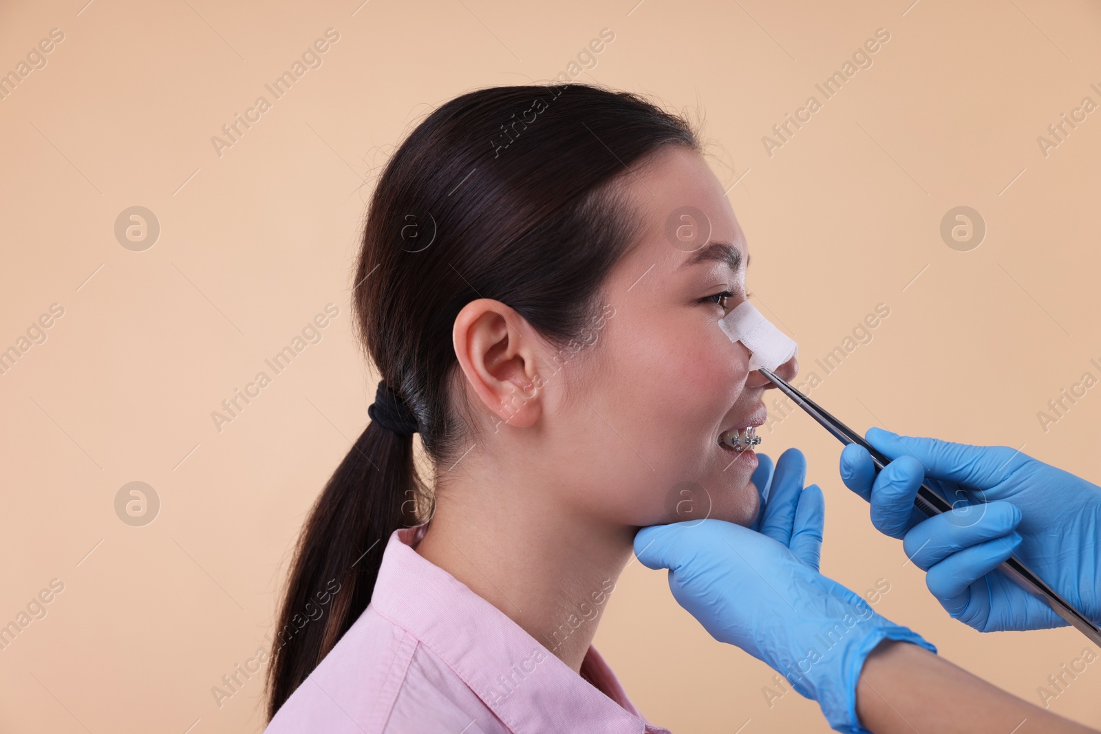
[[[371,603],[265,734],[669,734],[634,708],[595,647],[582,678],[417,554],[426,527],[390,536]]]

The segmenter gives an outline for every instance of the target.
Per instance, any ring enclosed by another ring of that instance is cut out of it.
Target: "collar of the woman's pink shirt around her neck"
[[[647,722],[606,695],[501,610],[413,549],[427,525],[386,543],[371,605],[432,649],[517,734],[563,731],[641,734]],[[596,648],[587,672],[630,703]],[[665,731],[652,727],[648,731]]]

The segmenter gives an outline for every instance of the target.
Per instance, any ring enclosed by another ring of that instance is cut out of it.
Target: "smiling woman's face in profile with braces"
[[[727,429],[765,423],[772,387],[718,326],[746,298],[745,238],[719,179],[691,151],[674,146],[635,166],[626,188],[643,216],[641,241],[606,283],[604,318],[588,335],[601,343],[544,375],[548,385],[568,382],[569,397],[552,410],[557,436],[541,463],[590,518],[752,524],[756,456],[718,443]],[[797,369],[792,359],[777,374],[792,380]],[[547,391],[550,403],[563,395]]]

